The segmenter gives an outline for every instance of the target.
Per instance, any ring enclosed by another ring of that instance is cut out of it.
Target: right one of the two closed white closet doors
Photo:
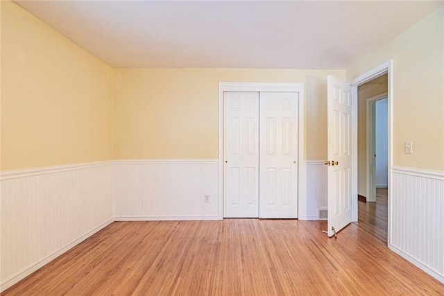
[[[298,218],[298,93],[260,93],[259,217]]]

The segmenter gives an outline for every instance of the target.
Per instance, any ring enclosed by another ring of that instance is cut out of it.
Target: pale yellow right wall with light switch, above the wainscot
[[[393,165],[444,171],[444,7],[347,69],[393,59]],[[413,141],[413,154],[404,142]]]

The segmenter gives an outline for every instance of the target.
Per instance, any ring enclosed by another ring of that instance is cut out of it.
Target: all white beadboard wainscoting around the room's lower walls
[[[221,219],[218,169],[217,160],[121,160],[1,173],[0,291],[113,220]],[[327,167],[304,170],[299,219],[319,220]],[[444,283],[444,173],[392,175],[389,247]]]

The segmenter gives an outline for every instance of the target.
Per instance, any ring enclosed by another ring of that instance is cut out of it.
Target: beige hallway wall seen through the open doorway
[[[387,92],[387,75],[358,87],[358,194],[366,196],[367,186],[367,99]]]

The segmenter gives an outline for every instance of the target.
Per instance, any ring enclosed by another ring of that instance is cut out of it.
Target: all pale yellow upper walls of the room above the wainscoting
[[[112,159],[113,148],[116,159],[215,159],[219,81],[305,83],[305,159],[325,159],[327,74],[350,80],[393,58],[393,162],[444,171],[444,8],[345,77],[342,70],[113,70],[14,3],[1,6],[2,170]],[[404,154],[404,141],[413,141],[413,155]]]

